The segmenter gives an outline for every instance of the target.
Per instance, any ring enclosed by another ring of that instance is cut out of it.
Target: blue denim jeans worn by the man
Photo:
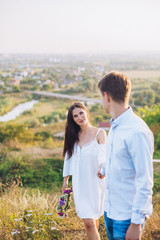
[[[114,220],[107,217],[107,213],[104,212],[104,221],[107,231],[107,236],[109,240],[125,240],[125,235],[129,225],[131,224],[131,219],[128,220]],[[144,228],[142,224],[142,230]]]

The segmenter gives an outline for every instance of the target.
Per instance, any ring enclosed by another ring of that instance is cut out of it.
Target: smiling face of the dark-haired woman
[[[73,120],[79,125],[83,126],[88,123],[87,113],[82,108],[75,108],[72,111]]]

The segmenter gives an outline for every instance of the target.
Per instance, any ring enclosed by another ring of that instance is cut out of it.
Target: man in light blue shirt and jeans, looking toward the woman
[[[141,239],[152,213],[153,134],[129,106],[131,83],[118,72],[98,84],[102,106],[111,114],[107,160],[98,176],[106,177],[105,226],[109,240]]]

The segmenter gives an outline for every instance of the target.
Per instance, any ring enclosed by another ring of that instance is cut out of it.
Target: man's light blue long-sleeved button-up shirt
[[[153,134],[131,107],[111,124],[101,170],[107,190],[104,210],[109,218],[142,224],[152,213]]]

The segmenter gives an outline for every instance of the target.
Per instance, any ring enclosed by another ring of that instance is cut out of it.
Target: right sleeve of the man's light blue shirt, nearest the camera
[[[131,217],[131,222],[135,224],[143,224],[145,217],[152,214],[153,146],[153,134],[149,130],[134,133],[129,143],[129,153],[136,173]]]

